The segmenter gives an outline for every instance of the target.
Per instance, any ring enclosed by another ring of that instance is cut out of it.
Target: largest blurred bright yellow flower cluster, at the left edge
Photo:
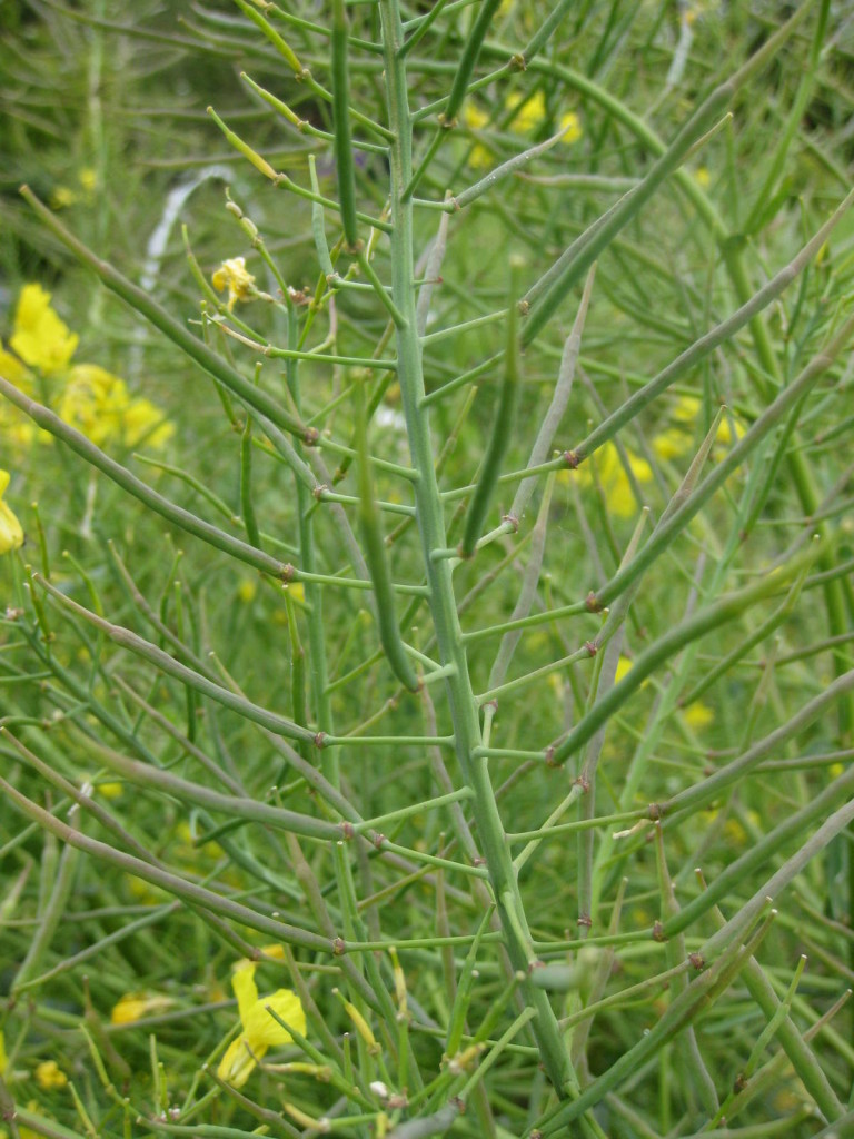
[[[51,399],[60,418],[93,443],[163,446],[174,426],[150,400],[132,398],[118,376],[95,363],[73,364],[79,341],[51,306],[50,293],[25,285],[9,337],[13,351],[0,343],[0,375],[27,395]],[[50,439],[6,403],[0,404],[0,431],[19,448]]]

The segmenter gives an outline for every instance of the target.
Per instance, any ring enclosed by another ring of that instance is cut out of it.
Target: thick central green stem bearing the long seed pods
[[[412,122],[405,62],[400,55],[403,30],[397,0],[380,0],[379,7],[383,21],[389,126],[394,133],[394,141],[389,146],[393,222],[392,296],[405,321],[395,329],[397,375],[412,465],[418,472],[418,480],[414,483],[418,528],[440,658],[443,666],[451,666],[446,685],[457,756],[463,778],[475,793],[474,814],[508,953],[514,968],[524,972],[527,977],[535,958],[504,829],[490,781],[488,762],[485,757],[473,757],[475,748],[481,744],[481,724],[462,644],[451,566],[444,558],[434,560],[432,557],[433,550],[446,547],[446,535],[435,473],[429,412],[422,402],[425,390],[421,344],[416,321],[412,203],[405,196],[412,178]],[[524,988],[527,1003],[537,1014],[532,1022],[532,1029],[542,1051],[549,1079],[559,1096],[576,1095],[578,1083],[548,994],[542,989],[535,989],[528,981]]]

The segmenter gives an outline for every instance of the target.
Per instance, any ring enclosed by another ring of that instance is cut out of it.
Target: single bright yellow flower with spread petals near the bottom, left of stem
[[[279,989],[270,997],[258,997],[255,964],[240,961],[231,978],[237,997],[243,1032],[232,1040],[220,1060],[217,1075],[232,1088],[241,1088],[269,1048],[289,1044],[294,1039],[287,1029],[270,1015],[269,1008],[301,1036],[305,1035],[305,1013],[299,998],[289,989]]]

